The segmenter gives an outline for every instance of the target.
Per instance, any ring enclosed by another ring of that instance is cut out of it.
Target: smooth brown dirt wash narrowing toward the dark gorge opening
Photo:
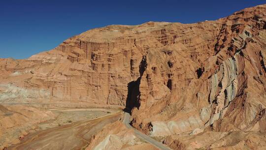
[[[92,136],[104,125],[118,120],[119,117],[120,112],[114,112],[99,118],[38,131],[7,150],[80,150],[86,147]]]

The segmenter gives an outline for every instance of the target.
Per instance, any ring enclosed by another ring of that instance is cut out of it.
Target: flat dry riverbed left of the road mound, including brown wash
[[[0,150],[80,149],[86,147],[105,124],[119,119],[120,111],[115,108],[5,106],[0,110]]]

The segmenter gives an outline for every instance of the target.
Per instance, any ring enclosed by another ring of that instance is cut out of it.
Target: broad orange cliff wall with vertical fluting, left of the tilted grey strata
[[[27,60],[2,59],[2,86],[43,90],[49,100],[126,105],[127,99],[139,100],[140,79],[147,76],[148,90],[159,100],[181,88],[177,83],[187,86],[197,77],[195,69],[213,53],[219,26],[148,22],[90,30]]]

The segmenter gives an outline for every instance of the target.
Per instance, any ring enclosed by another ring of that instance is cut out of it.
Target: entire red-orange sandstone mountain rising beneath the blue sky
[[[0,101],[127,106],[135,128],[173,149],[263,149],[265,65],[259,5],[195,24],[107,26],[26,60],[0,59]]]

